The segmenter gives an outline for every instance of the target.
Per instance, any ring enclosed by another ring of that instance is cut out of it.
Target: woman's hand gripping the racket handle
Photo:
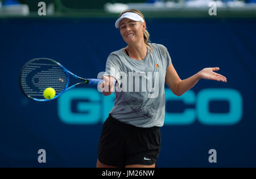
[[[115,87],[115,78],[113,76],[102,76],[103,82],[101,83],[101,91],[103,95],[111,95]]]

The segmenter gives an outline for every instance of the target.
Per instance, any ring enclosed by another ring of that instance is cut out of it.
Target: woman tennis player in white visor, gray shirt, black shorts
[[[148,42],[150,35],[138,10],[122,12],[115,27],[127,46],[109,55],[102,76],[102,92],[108,96],[115,87],[115,103],[102,129],[97,167],[154,168],[160,151],[159,127],[164,123],[164,84],[181,96],[199,79],[226,82],[226,78],[214,73],[218,67],[209,67],[181,80],[167,48]],[[141,78],[138,83],[134,74]],[[141,90],[144,86],[146,91]]]

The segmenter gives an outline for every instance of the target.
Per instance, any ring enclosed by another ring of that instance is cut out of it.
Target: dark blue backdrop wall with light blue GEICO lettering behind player
[[[36,103],[19,89],[28,60],[47,57],[97,78],[126,46],[115,19],[0,19],[0,167],[95,167],[102,123],[113,106],[92,86]],[[151,42],[167,47],[181,79],[220,67],[228,83],[200,80],[176,97],[166,88],[158,167],[256,167],[256,19],[146,19]],[[74,94],[78,97],[73,97]],[[38,150],[46,163],[38,163]],[[217,163],[209,163],[210,149]]]

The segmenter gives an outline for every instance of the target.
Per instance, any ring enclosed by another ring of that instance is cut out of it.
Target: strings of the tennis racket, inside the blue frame
[[[24,67],[20,84],[28,97],[44,99],[46,88],[53,88],[59,95],[67,87],[68,76],[63,68],[48,59],[36,59]]]

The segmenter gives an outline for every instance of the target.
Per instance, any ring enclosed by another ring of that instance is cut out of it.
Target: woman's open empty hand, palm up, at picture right
[[[226,77],[222,76],[220,74],[217,74],[213,71],[218,71],[220,70],[219,67],[214,67],[214,68],[205,68],[201,71],[199,71],[199,76],[202,79],[210,79],[210,80],[216,80],[216,81],[221,81],[226,83]]]

